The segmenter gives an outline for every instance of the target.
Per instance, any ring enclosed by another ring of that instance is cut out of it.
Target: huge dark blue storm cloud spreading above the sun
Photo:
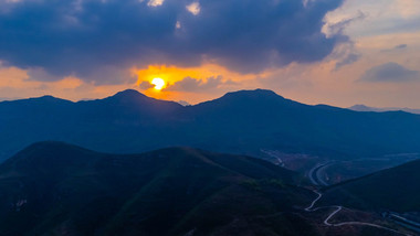
[[[97,72],[203,60],[255,73],[321,61],[348,40],[342,31],[322,33],[325,14],[343,0],[201,0],[197,15],[186,8],[191,0],[157,7],[148,0],[0,2],[0,60],[52,75],[44,79],[113,83],[119,78]]]

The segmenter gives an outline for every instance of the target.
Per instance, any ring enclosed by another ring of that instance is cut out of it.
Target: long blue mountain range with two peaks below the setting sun
[[[261,149],[349,159],[420,152],[420,116],[300,104],[241,90],[195,106],[136,90],[72,103],[51,96],[0,103],[0,159],[36,141],[132,153],[189,146],[259,155]]]

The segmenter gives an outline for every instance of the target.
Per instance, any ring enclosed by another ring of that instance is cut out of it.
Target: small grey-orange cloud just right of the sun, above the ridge
[[[177,90],[177,92],[209,92],[219,88],[223,85],[234,85],[234,82],[223,81],[222,76],[209,77],[206,79],[196,79],[191,77],[186,77],[182,81],[176,82],[168,85],[165,90]]]

